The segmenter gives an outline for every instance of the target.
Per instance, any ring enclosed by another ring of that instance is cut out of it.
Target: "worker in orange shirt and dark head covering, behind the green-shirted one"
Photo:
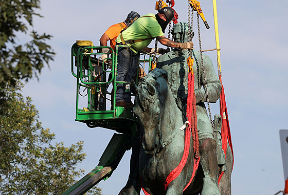
[[[125,21],[109,27],[100,38],[100,46],[107,46],[107,41],[110,40],[110,47],[112,49],[115,49],[116,38],[118,37],[118,35],[121,33],[122,30],[125,30],[130,25],[132,25],[134,21],[138,19],[139,17],[140,15],[137,12],[131,11],[128,14],[127,18],[125,19]],[[109,52],[108,48],[102,49],[102,53],[108,53],[108,52]],[[104,60],[104,62],[106,61],[105,60],[106,58],[107,58],[107,54],[103,54],[101,56],[101,59]]]

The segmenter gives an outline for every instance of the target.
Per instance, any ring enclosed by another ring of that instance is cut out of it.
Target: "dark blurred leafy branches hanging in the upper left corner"
[[[32,31],[32,40],[18,44],[16,33],[27,33],[33,16],[40,16],[40,0],[0,0],[0,85],[14,84],[13,78],[28,81],[38,78],[44,63],[53,60],[55,53],[45,41],[51,38]]]

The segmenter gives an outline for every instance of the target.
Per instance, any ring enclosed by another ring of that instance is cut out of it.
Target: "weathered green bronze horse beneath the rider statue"
[[[178,166],[184,153],[185,130],[183,116],[170,89],[167,72],[154,69],[140,79],[138,86],[131,83],[135,94],[133,112],[141,124],[139,154],[140,182],[145,194],[200,194],[204,172],[201,165],[193,174],[193,140],[190,139],[189,155],[181,173],[165,187],[170,172]],[[218,118],[221,122],[221,118]],[[218,125],[219,128],[219,125]],[[220,125],[221,128],[221,125]],[[230,158],[230,159],[229,159]],[[227,149],[229,162],[219,184],[221,194],[231,194],[231,150]],[[230,169],[229,169],[230,168]],[[193,179],[191,182],[191,178]]]

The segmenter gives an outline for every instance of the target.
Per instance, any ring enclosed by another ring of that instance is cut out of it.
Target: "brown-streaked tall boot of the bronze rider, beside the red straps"
[[[199,142],[200,161],[205,176],[201,195],[221,195],[218,188],[217,143],[213,138],[203,138]]]

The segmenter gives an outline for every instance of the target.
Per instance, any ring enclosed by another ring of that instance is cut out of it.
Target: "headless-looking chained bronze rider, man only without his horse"
[[[187,42],[189,27],[187,23],[177,23],[172,29],[174,41]],[[190,31],[191,33],[191,31]],[[188,50],[173,49],[169,53],[162,55],[157,60],[157,68],[168,72],[168,80],[172,86],[172,92],[182,107],[183,115],[186,116],[187,90],[188,90]],[[207,116],[207,110],[204,102],[206,95],[204,88],[204,75],[202,71],[202,60],[199,51],[192,50],[194,58],[194,89],[196,96],[196,114],[197,129],[199,135],[199,151],[201,165],[204,170],[204,186],[202,195],[220,195],[218,188],[218,161],[217,161],[217,142],[214,138],[214,132]],[[207,82],[207,92],[209,102],[215,103],[221,93],[221,82],[215,73],[211,59],[203,55],[203,63]]]

